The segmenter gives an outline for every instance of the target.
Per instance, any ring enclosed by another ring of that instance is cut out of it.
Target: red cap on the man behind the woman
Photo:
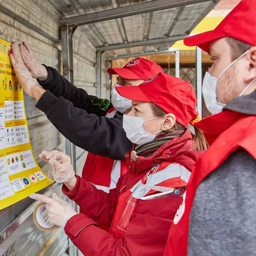
[[[136,58],[129,61],[123,68],[108,68],[108,74],[118,75],[126,79],[148,79],[156,76],[163,69],[151,60]]]

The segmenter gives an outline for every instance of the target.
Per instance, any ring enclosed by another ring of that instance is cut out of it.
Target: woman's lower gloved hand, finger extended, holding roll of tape
[[[52,198],[36,193],[30,194],[29,197],[46,203],[45,209],[47,210],[48,219],[58,227],[64,228],[67,221],[78,214],[70,203],[60,199],[55,193],[52,194]]]

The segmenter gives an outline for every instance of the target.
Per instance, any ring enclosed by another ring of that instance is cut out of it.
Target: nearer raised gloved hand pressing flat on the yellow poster
[[[29,96],[33,97],[31,88],[40,85],[37,83],[36,79],[31,76],[28,68],[24,65],[17,42],[12,43],[11,52],[12,53],[10,54],[10,60],[14,72],[20,84],[23,86],[24,91]]]

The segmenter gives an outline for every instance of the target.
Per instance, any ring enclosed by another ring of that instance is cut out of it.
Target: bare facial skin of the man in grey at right
[[[221,38],[212,42],[209,54],[213,61],[209,73],[218,78],[222,71],[233,61],[232,49],[227,40]],[[229,67],[217,81],[216,93],[219,102],[228,104],[238,97],[252,80],[252,72],[249,68],[250,61],[246,55]]]

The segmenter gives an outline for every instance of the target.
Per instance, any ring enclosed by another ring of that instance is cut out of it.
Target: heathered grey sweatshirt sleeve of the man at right
[[[232,153],[196,191],[188,256],[256,255],[256,160]]]

